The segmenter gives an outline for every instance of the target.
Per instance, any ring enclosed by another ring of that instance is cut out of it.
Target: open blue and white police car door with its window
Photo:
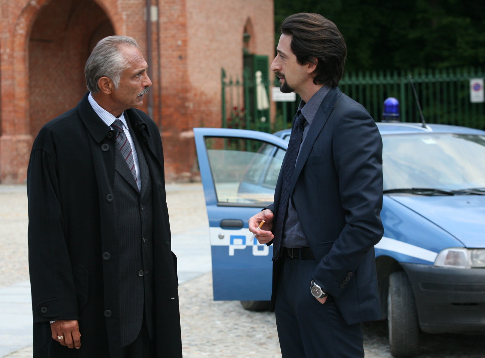
[[[271,298],[273,246],[251,241],[248,219],[273,203],[288,143],[242,129],[194,128],[210,226],[214,300],[263,309]],[[261,305],[262,304],[262,305]]]

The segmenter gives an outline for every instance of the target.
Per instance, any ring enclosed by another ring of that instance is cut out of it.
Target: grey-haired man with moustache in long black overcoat
[[[51,120],[28,170],[34,357],[181,357],[162,142],[136,41],[89,57],[89,92]]]

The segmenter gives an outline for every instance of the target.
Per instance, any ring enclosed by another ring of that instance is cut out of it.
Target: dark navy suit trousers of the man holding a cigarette
[[[283,358],[363,358],[362,324],[346,324],[331,296],[322,305],[310,292],[316,260],[281,259],[275,315]]]

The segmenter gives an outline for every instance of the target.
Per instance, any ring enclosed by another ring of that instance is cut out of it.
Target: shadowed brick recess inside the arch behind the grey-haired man
[[[39,11],[29,38],[30,134],[74,107],[87,91],[84,65],[97,41],[113,35],[93,0],[52,0]]]

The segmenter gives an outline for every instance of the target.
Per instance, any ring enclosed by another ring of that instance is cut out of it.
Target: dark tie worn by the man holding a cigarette
[[[295,171],[296,158],[298,157],[298,151],[300,150],[300,144],[303,137],[303,126],[307,120],[303,114],[299,114],[295,121],[295,126],[291,131],[290,142],[288,143],[288,149],[286,150],[283,163],[283,184],[281,187],[281,196],[278,205],[278,214],[276,215],[275,226],[275,238],[273,239],[273,261],[280,255],[281,239],[283,236],[283,228],[285,225],[285,216],[288,211],[288,201],[290,199],[290,186],[293,172]]]

